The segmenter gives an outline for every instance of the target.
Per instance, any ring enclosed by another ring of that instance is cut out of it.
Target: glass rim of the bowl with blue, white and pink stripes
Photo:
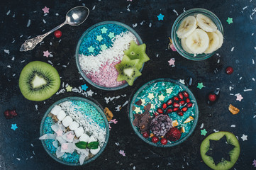
[[[122,84],[121,86],[114,86],[114,87],[104,87],[104,86],[99,86],[98,84],[95,84],[93,81],[91,81],[91,79],[89,79],[84,72],[82,71],[82,68],[79,64],[79,47],[81,45],[82,40],[84,39],[84,36],[87,35],[87,33],[89,33],[91,30],[93,30],[94,28],[98,27],[98,26],[102,26],[102,25],[107,25],[107,24],[116,24],[118,26],[122,26],[123,28],[126,28],[128,31],[130,31],[131,33],[133,33],[133,35],[135,35],[135,38],[137,38],[138,42],[140,45],[143,44],[143,40],[140,38],[140,35],[138,35],[138,33],[136,33],[135,30],[133,30],[133,28],[131,28],[130,26],[126,25],[125,23],[121,23],[118,21],[103,21],[100,23],[96,23],[93,26],[90,26],[87,30],[84,31],[84,33],[82,34],[82,36],[79,38],[79,41],[77,42],[77,47],[76,47],[76,52],[75,52],[75,58],[76,58],[76,63],[77,63],[77,69],[80,73],[80,75],[92,86],[101,89],[101,90],[106,90],[106,91],[115,91],[115,90],[119,90],[119,89],[123,89],[126,86],[128,86],[128,83],[126,82],[125,84]],[[143,63],[143,67],[144,67],[144,63]],[[142,72],[143,67],[140,69],[140,72]],[[137,79],[137,77],[135,78]],[[135,80],[134,80],[135,81]]]

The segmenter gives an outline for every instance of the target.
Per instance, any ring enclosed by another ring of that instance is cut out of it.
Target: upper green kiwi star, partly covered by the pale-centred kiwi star
[[[145,52],[146,45],[137,45],[133,40],[130,42],[130,47],[128,50],[124,51],[124,54],[130,57],[130,60],[138,59],[140,62],[137,64],[137,69],[141,69],[143,67],[144,62],[148,62],[150,58]]]

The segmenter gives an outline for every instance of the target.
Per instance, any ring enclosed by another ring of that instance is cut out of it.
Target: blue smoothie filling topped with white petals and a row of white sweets
[[[65,101],[54,106],[45,117],[42,131],[40,140],[50,156],[69,165],[84,164],[106,143],[105,120],[86,101]],[[79,142],[95,146],[81,148]]]

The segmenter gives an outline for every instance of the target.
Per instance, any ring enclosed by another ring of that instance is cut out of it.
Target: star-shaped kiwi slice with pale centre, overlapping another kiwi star
[[[138,70],[138,63],[140,60],[130,60],[130,57],[127,55],[123,56],[123,60],[116,64],[116,70],[118,71],[117,81],[127,81],[130,86],[133,86],[133,81],[136,77],[141,75]]]

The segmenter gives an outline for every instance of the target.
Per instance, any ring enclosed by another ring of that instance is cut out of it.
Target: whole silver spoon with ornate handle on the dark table
[[[20,51],[33,50],[35,45],[38,45],[38,43],[41,42],[43,38],[45,38],[50,33],[61,28],[65,24],[68,24],[69,26],[79,26],[81,23],[84,23],[84,21],[87,19],[88,16],[89,16],[89,8],[85,6],[76,6],[70,9],[66,14],[66,21],[64,23],[60,24],[60,26],[53,28],[48,33],[45,33],[43,35],[38,35],[35,38],[26,40],[23,43],[23,45],[21,45]]]

